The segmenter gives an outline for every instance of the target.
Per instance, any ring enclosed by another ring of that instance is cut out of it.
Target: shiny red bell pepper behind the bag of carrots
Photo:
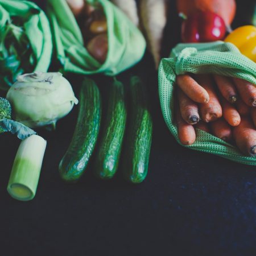
[[[225,33],[224,20],[211,11],[197,11],[188,16],[181,25],[181,39],[184,43],[221,40]]]

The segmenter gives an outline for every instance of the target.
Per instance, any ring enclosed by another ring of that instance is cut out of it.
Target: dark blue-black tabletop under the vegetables
[[[237,1],[233,27],[246,24],[253,2]],[[180,40],[171,3],[163,56]],[[118,171],[101,181],[90,164],[79,183],[61,181],[57,168],[72,138],[76,106],[55,132],[39,130],[48,144],[38,191],[34,200],[20,202],[6,191],[19,141],[1,135],[0,255],[256,255],[255,167],[179,146],[162,117],[152,57],[146,53],[120,79],[130,73],[141,75],[150,92],[154,132],[146,180],[128,184]],[[104,94],[110,79],[94,78]],[[69,79],[77,94],[81,78]]]

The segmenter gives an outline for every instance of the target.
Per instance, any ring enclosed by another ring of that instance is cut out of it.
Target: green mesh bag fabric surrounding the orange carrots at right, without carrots
[[[174,122],[175,98],[173,92],[176,75],[187,72],[238,77],[256,84],[256,64],[243,56],[232,43],[218,41],[178,44],[172,49],[170,58],[162,59],[158,75],[163,117],[172,135],[179,143],[177,127]],[[238,163],[256,165],[256,158],[242,155],[236,146],[199,129],[196,129],[196,142],[185,147],[222,156]]]

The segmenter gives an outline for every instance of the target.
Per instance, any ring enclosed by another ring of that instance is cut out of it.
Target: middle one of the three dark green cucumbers
[[[125,89],[122,82],[114,81],[110,86],[108,110],[105,118],[94,174],[102,179],[110,179],[118,168],[125,133],[126,105]]]

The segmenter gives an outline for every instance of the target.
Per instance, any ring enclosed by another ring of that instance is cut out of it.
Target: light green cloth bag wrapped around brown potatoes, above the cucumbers
[[[100,3],[106,15],[109,48],[103,64],[94,59],[84,47],[79,25],[67,2],[48,0],[47,13],[52,24],[57,59],[64,71],[114,76],[141,60],[146,42],[129,18],[108,0],[87,2]]]

